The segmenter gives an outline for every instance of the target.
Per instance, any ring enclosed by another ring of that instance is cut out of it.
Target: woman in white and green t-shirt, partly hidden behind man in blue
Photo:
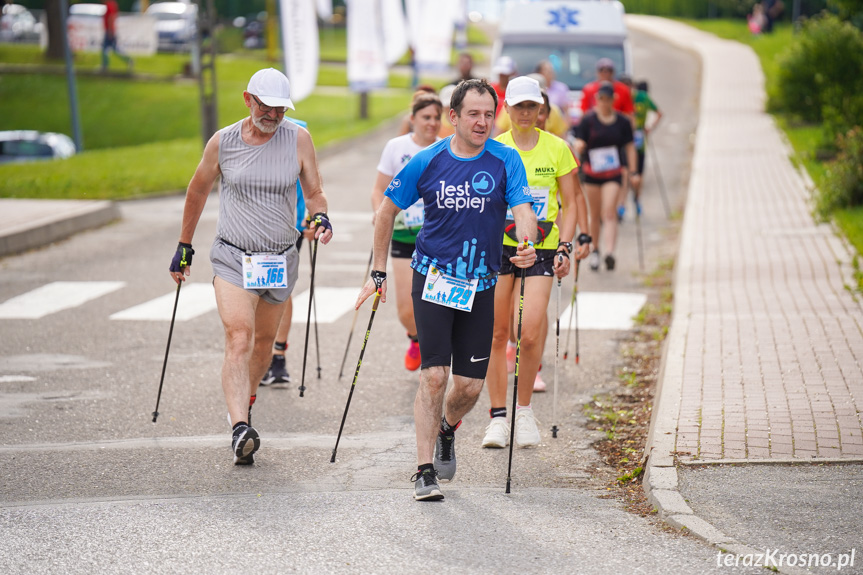
[[[441,128],[442,106],[437,94],[418,90],[411,101],[410,123],[413,131],[393,138],[384,146],[378,163],[378,175],[372,188],[372,209],[377,213],[384,201],[384,191],[393,176],[399,173],[410,159],[438,140]],[[393,258],[393,276],[396,285],[396,307],[399,320],[407,330],[410,344],[405,352],[405,368],[416,371],[420,367],[420,348],[417,340],[417,326],[414,321],[413,300],[411,299],[411,257],[414,252],[417,234],[423,224],[423,202],[399,212],[396,216],[390,255]]]

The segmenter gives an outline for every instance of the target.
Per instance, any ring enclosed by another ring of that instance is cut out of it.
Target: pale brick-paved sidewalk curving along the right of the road
[[[659,406],[674,441],[660,444],[684,460],[863,458],[863,307],[764,112],[756,55],[668,20],[632,25],[703,66]]]

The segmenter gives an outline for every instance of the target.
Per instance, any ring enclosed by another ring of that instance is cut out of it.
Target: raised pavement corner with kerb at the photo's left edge
[[[24,221],[4,224],[0,257],[40,248],[120,218],[117,204],[107,200],[3,199],[0,206],[4,212],[23,211],[25,215]]]

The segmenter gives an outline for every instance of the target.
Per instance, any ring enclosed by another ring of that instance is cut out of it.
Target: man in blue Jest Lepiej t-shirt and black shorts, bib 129
[[[359,308],[380,291],[386,302],[393,221],[422,198],[425,220],[411,262],[422,357],[414,403],[417,500],[443,499],[437,477],[455,475],[455,430],[482,391],[507,208],[518,237],[532,242],[536,235],[524,164],[515,149],[489,140],[496,108],[497,94],[485,80],[466,80],[455,89],[450,110],[455,134],[416,154],[387,188],[375,218],[372,277],[357,300]],[[519,246],[510,261],[532,266],[533,244]],[[450,365],[454,385],[445,393]]]

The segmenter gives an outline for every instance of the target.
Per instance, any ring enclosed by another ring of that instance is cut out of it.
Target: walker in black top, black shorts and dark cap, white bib
[[[626,152],[626,165],[637,166],[632,122],[614,111],[614,88],[603,83],[596,94],[596,107],[585,114],[575,128],[575,149],[582,157],[584,190],[590,212],[590,235],[594,249],[588,259],[590,269],[599,269],[600,223],[605,229],[603,251],[606,269],[614,269],[614,247],[617,243],[617,195],[620,191],[623,170],[620,152]],[[630,169],[633,186],[641,183],[641,176]]]

